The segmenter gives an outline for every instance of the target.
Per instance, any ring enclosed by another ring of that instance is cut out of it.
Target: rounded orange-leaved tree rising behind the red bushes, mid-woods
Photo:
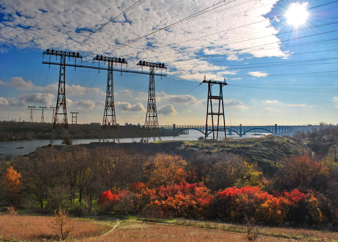
[[[179,155],[157,154],[143,169],[151,186],[169,186],[185,181],[187,162]]]

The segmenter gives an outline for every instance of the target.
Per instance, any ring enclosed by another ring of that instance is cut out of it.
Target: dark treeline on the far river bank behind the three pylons
[[[98,139],[101,134],[101,125],[68,124],[71,139]],[[37,122],[0,121],[0,141],[50,139],[53,124]],[[119,138],[142,138],[143,127],[119,125]],[[160,136],[168,136],[169,132],[160,130]],[[63,139],[61,135],[57,139]]]

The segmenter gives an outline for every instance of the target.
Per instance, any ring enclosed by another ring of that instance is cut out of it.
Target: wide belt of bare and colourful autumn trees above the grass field
[[[291,156],[265,177],[257,164],[226,152],[183,159],[109,147],[40,148],[2,163],[0,201],[88,213],[98,199],[103,210],[148,216],[337,224],[336,153]]]

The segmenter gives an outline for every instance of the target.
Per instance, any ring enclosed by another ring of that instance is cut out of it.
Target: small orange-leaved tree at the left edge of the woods
[[[9,166],[3,173],[4,192],[10,204],[20,204],[21,177],[20,172],[14,170],[13,166]]]

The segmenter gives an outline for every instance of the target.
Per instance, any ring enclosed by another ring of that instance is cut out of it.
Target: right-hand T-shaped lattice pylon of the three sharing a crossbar
[[[155,67],[156,70],[158,68],[161,68],[161,74],[162,70],[165,69],[167,71],[167,67],[164,64],[161,63],[151,63],[151,62],[145,62],[141,61],[137,64],[138,66],[149,66],[149,93],[148,93],[148,105],[147,105],[147,114],[146,114],[146,120],[144,123],[144,135],[143,139],[147,139],[147,143],[149,142],[150,137],[153,138],[155,141],[156,137],[161,140],[161,137],[159,135],[159,122],[157,119],[157,112],[156,112],[156,102],[155,102]]]

